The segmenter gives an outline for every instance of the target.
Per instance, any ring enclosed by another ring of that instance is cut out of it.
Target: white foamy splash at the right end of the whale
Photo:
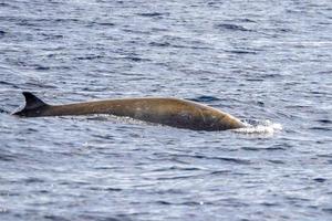
[[[257,122],[257,120],[245,120],[247,127],[232,129],[239,134],[261,134],[261,135],[273,135],[277,131],[282,130],[282,125],[278,123],[272,123],[271,120]]]

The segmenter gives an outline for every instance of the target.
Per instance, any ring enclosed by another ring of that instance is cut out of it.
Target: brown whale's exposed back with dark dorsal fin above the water
[[[13,115],[22,117],[110,114],[194,130],[225,130],[245,127],[236,117],[216,108],[178,98],[124,98],[49,105],[23,92],[25,106]]]

